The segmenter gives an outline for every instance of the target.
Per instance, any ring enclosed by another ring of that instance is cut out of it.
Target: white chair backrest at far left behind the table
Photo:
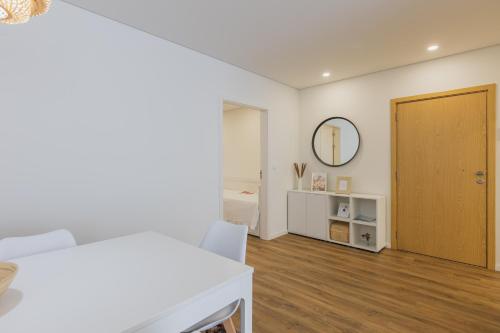
[[[74,246],[76,246],[75,238],[68,230],[57,230],[34,236],[4,238],[0,240],[0,261]]]

